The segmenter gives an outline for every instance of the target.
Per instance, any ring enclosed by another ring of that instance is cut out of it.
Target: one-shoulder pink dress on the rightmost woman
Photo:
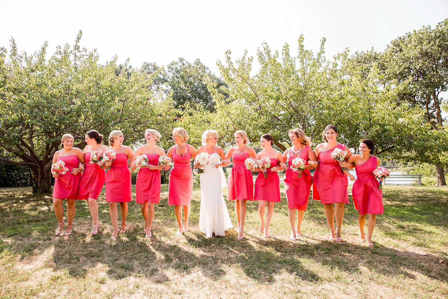
[[[356,181],[353,182],[353,202],[360,215],[383,214],[383,192],[378,189],[379,181],[373,170],[378,165],[375,156],[363,164],[356,165]]]

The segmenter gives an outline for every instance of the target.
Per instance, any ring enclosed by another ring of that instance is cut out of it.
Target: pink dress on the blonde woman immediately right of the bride
[[[227,199],[247,199],[254,200],[254,180],[252,173],[244,166],[244,161],[249,158],[249,154],[232,154],[232,172],[228,177]]]

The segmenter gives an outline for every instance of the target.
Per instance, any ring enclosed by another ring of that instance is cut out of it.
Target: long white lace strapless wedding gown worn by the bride
[[[221,192],[221,189],[227,186],[227,182],[222,167],[215,167],[220,163],[220,156],[217,153],[210,156],[210,163],[204,166],[204,172],[201,173],[199,212],[199,230],[206,238],[211,238],[213,233],[215,236],[225,236],[225,231],[233,227]]]

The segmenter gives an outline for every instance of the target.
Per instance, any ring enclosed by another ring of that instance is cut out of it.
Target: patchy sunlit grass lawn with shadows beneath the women
[[[198,230],[196,185],[189,232],[175,236],[174,208],[168,206],[164,185],[155,208],[154,238],[143,238],[144,221],[134,195],[128,232],[112,241],[104,192],[98,235],[90,235],[87,203],[79,201],[73,234],[56,237],[51,195],[2,188],[0,297],[446,298],[448,267],[439,260],[448,260],[448,188],[386,186],[383,193],[385,212],[377,218],[375,247],[369,249],[358,242],[351,195],[343,243],[327,241],[322,205],[313,200],[303,236],[289,241],[283,190],[271,238],[258,232],[258,203],[248,202],[244,240],[238,241],[233,229],[226,237],[206,239]],[[236,225],[233,202],[228,209]]]

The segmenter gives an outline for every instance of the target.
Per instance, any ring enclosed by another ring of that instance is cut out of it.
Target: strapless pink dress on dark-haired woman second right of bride
[[[272,167],[278,165],[279,160],[270,158],[271,167],[267,169],[267,178],[262,171],[258,172],[255,179],[255,200],[280,201],[280,178],[276,171],[271,171]]]

